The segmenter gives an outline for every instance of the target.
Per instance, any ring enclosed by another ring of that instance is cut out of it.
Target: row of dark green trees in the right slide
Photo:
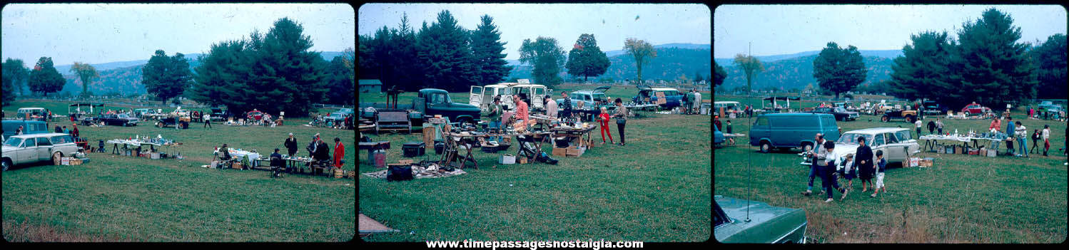
[[[857,90],[932,99],[949,107],[972,101],[1003,107],[1033,98],[1065,98],[1066,35],[1054,34],[1043,43],[1019,43],[1021,28],[1012,21],[1008,14],[989,9],[980,18],[964,22],[957,40],[945,31],[911,35],[903,56],[894,60],[892,80],[867,85],[859,85],[867,69],[857,48],[841,48],[831,42],[814,61],[814,78],[822,92],[836,98]],[[746,75],[749,93],[752,79],[763,65],[745,54],[735,56],[734,64]],[[714,84],[723,84],[723,67],[714,62]]]

